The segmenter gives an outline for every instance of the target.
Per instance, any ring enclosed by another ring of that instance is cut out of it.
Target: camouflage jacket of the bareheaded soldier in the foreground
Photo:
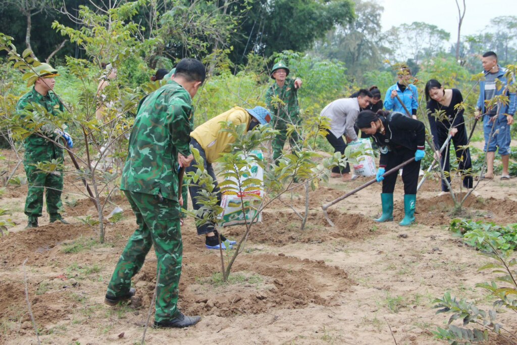
[[[191,154],[191,116],[192,98],[174,81],[140,102],[129,137],[121,190],[178,200],[178,152]]]

